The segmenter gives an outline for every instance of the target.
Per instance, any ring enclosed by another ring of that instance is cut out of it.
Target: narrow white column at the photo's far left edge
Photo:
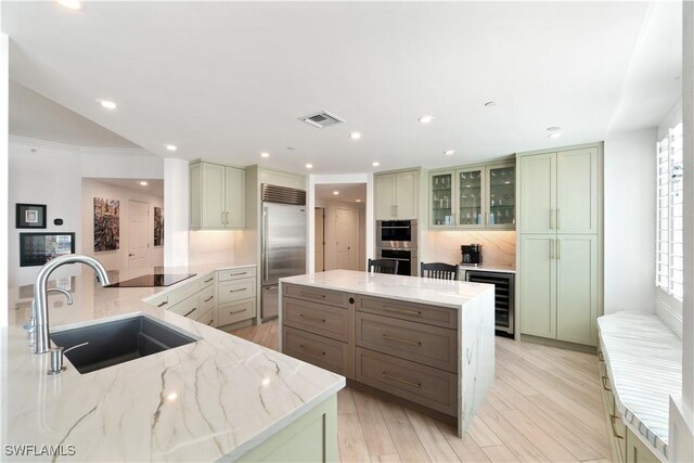
[[[0,9],[2,7],[0,5]],[[0,18],[2,11],[0,10]],[[10,246],[8,241],[9,223],[9,205],[8,205],[8,185],[10,170],[10,153],[8,152],[8,112],[9,112],[9,74],[8,74],[8,46],[9,37],[0,33],[0,243],[4,243],[5,258],[0,266],[0,327],[8,325],[8,250]],[[17,243],[12,243],[17,245]]]

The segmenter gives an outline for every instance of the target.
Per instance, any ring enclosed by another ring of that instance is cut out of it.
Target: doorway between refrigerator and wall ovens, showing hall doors
[[[365,183],[316,185],[314,271],[365,270]]]

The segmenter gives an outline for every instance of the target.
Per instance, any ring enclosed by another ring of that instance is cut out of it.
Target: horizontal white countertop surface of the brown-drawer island
[[[457,280],[435,280],[419,276],[390,275],[354,270],[330,270],[280,279],[281,283],[320,286],[367,296],[387,297],[411,303],[435,304],[458,308],[493,285]]]

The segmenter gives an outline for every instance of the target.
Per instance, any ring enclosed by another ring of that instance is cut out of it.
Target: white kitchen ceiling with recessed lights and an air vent
[[[11,77],[163,156],[174,143],[312,173],[467,164],[653,127],[681,92],[680,50],[661,49],[680,2],[85,4],[3,2]],[[321,110],[346,123],[297,120]]]

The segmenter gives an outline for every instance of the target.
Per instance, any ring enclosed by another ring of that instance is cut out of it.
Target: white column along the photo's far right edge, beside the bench
[[[682,121],[684,125],[684,300],[682,396],[670,398],[668,460],[694,461],[694,2],[682,2]]]

